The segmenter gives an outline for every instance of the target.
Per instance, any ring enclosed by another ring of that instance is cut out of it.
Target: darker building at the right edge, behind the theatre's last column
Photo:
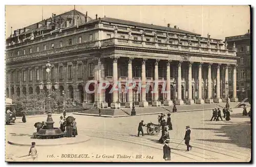
[[[236,45],[237,56],[240,60],[237,62],[237,96],[241,101],[244,98],[251,97],[251,52],[250,30],[244,35],[226,37],[229,49],[232,49],[233,43]],[[228,71],[228,80],[232,81],[232,71]],[[229,82],[231,83],[231,82]],[[231,85],[230,85],[231,87]],[[231,89],[232,91],[232,89]],[[232,92],[230,92],[232,94]]]

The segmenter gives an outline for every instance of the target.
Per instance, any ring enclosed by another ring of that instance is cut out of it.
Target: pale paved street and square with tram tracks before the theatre
[[[139,122],[144,120],[144,123],[157,124],[157,115],[116,118],[73,116],[76,117],[78,136],[77,139],[67,138],[67,140],[81,140],[82,138],[87,140],[73,145],[38,146],[36,147],[38,151],[36,161],[164,161],[162,159],[163,145],[157,142],[161,134],[137,137]],[[15,125],[6,126],[6,160],[32,160],[28,159],[29,157],[20,157],[27,155],[30,147],[12,146],[7,141],[15,140],[15,142],[30,144],[30,135],[36,131],[34,123],[46,121],[46,118],[47,116],[30,117],[27,118],[27,123],[21,123],[21,118],[18,118]],[[250,160],[250,122],[248,116],[242,116],[242,109],[233,109],[229,122],[210,122],[210,118],[210,110],[172,113],[174,130],[169,131],[172,162],[245,162]],[[55,127],[58,127],[59,115],[54,115],[53,120]],[[189,152],[185,152],[186,146],[182,141],[186,125],[190,126],[190,145],[193,146]],[[146,133],[146,127],[143,130]],[[40,144],[44,142],[34,140]],[[59,140],[49,139],[47,142],[57,145]],[[176,148],[181,141],[182,144]],[[79,158],[79,154],[83,155]],[[126,155],[126,157],[121,158],[118,154]],[[104,157],[104,155],[111,157]],[[141,159],[138,158],[139,155]],[[77,158],[68,156],[77,156]]]

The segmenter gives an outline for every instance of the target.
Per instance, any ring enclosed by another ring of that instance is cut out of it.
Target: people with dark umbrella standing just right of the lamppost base
[[[74,120],[72,122],[67,122],[65,120],[65,117],[63,117],[61,115],[60,120],[59,120],[59,124],[60,124],[61,131],[62,132],[65,132],[65,131],[67,132],[66,137],[76,137],[78,135],[77,134],[77,127],[76,127],[76,118],[74,118]]]

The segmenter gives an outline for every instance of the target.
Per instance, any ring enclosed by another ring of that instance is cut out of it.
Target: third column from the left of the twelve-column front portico
[[[146,101],[146,60],[142,60],[141,64],[141,102],[139,102],[139,107],[148,107],[148,102]]]

